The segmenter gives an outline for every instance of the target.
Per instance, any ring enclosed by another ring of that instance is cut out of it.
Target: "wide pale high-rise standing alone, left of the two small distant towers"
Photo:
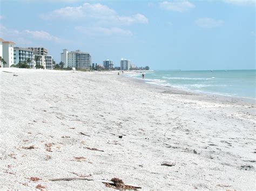
[[[63,53],[60,54],[60,59],[64,62],[64,67],[75,67],[77,69],[90,69],[91,66],[91,54],[87,52],[77,51],[69,52],[68,49],[63,49]]]

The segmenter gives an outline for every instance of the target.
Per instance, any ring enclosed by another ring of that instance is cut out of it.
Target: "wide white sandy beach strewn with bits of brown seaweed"
[[[253,102],[115,72],[1,68],[0,81],[0,189],[256,189]]]

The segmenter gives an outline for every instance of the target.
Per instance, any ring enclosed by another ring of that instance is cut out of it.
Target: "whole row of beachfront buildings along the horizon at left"
[[[26,62],[30,68],[44,68],[53,69],[53,58],[48,55],[48,49],[45,47],[14,47],[15,43],[12,41],[4,41],[0,38],[0,58],[4,59],[5,66],[12,67],[19,62]],[[77,69],[91,69],[91,54],[88,52],[82,52],[79,49],[76,51],[68,51],[63,49],[60,53],[60,60],[64,63],[63,68],[77,68]],[[103,60],[103,65],[98,65],[105,69],[113,69],[113,61],[110,59]],[[118,66],[115,69],[119,68]],[[135,65],[131,65],[131,61],[128,59],[121,59],[120,69],[129,70],[130,68],[136,68]]]

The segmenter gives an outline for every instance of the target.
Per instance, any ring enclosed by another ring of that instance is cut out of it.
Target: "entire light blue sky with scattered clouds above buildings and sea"
[[[256,0],[0,0],[0,38],[92,62],[150,69],[255,69]]]

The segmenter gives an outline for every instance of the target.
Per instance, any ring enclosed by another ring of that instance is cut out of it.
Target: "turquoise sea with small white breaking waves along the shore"
[[[142,79],[140,73],[129,75]],[[255,99],[256,70],[156,70],[145,73],[145,82],[210,94]]]

